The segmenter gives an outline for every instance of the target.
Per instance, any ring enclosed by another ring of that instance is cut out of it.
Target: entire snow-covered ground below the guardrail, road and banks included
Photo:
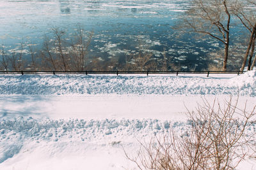
[[[0,75],[0,169],[131,169],[138,140],[177,131],[202,98],[256,104],[256,72]],[[186,106],[186,107],[185,107]],[[252,131],[255,131],[253,126]],[[124,147],[124,149],[123,149]],[[240,169],[256,169],[253,161]]]

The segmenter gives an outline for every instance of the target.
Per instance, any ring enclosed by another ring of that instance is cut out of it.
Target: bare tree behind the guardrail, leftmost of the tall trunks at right
[[[193,0],[192,7],[182,16],[179,27],[198,32],[220,41],[224,45],[223,71],[227,69],[230,44],[230,4],[232,0]]]

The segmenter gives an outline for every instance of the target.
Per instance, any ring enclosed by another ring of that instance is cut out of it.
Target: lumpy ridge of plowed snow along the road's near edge
[[[52,120],[44,118],[36,120],[33,118],[18,117],[13,120],[0,122],[0,138],[3,142],[11,142],[19,139],[39,141],[106,141],[109,136],[136,136],[136,134],[146,135],[149,132],[163,132],[169,128],[168,121],[152,119],[121,119],[121,120]],[[95,139],[96,138],[96,139]]]

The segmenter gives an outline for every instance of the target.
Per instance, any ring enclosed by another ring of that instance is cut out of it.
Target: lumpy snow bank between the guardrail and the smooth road
[[[95,94],[256,96],[255,71],[240,76],[1,75],[1,95],[84,96]]]

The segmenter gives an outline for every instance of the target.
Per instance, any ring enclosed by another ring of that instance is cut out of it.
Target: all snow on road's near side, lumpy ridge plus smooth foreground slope
[[[138,148],[136,139],[150,139],[168,128],[168,121],[152,119],[1,120],[0,169],[121,169],[128,162],[123,147],[131,153]]]

